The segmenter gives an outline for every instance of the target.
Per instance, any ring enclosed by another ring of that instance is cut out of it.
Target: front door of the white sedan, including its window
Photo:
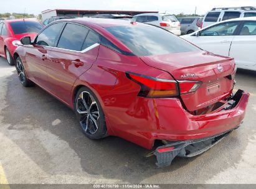
[[[238,21],[213,25],[201,30],[198,36],[192,36],[191,42],[204,50],[228,57],[238,25]]]

